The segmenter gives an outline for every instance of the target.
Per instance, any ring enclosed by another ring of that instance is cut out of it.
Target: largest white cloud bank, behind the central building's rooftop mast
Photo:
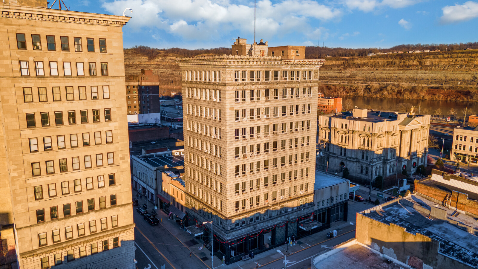
[[[253,33],[254,6],[247,4],[228,0],[114,0],[102,7],[115,14],[122,13],[124,7],[132,8],[129,24],[136,28],[159,28],[185,39],[217,40],[231,32]],[[328,21],[341,15],[338,9],[313,0],[260,0],[256,8],[257,36],[264,39],[310,28],[309,20]]]

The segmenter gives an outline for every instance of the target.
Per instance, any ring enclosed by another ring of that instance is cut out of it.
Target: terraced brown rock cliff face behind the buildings
[[[134,49],[125,49],[125,73],[137,75],[141,69],[152,69],[153,74],[164,78],[160,86],[180,91],[180,68],[175,63],[176,57],[182,56],[158,51],[150,59]],[[388,89],[391,85],[408,88],[410,93],[416,91],[416,94],[404,94],[402,98],[405,99],[478,100],[478,50],[327,57],[320,69],[320,78],[326,86],[322,90],[328,94],[396,98],[393,89]],[[357,85],[365,90],[353,89]],[[387,86],[390,96],[381,95]],[[420,89],[414,89],[416,87]]]

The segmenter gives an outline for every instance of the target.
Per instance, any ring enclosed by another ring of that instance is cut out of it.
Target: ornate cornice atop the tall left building
[[[46,8],[0,5],[0,18],[123,27],[130,17]]]

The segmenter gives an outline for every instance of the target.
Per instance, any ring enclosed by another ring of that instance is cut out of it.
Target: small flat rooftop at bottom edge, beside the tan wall
[[[343,247],[326,258],[317,257],[314,266],[317,269],[401,269],[393,261],[389,262],[387,258],[359,244]]]

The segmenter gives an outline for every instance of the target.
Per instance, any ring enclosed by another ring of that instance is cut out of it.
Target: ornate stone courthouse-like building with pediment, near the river
[[[350,176],[365,183],[426,166],[430,115],[354,109],[321,115],[318,124],[328,171],[348,168]]]

